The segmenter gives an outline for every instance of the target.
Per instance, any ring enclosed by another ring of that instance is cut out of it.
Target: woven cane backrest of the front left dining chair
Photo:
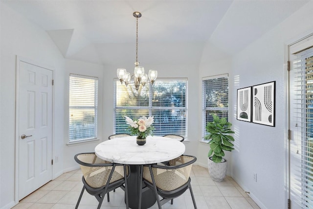
[[[81,161],[83,164],[80,165],[81,170],[83,172],[85,181],[87,184],[93,188],[99,188],[102,186],[106,186],[110,173],[112,171],[112,164],[110,166],[92,166],[92,164],[98,163],[112,163],[109,161],[102,160],[98,158],[95,154],[80,154],[77,156],[77,159]],[[79,163],[79,162],[78,162]],[[88,164],[90,166],[88,166]],[[126,167],[126,172],[128,174],[128,167]],[[110,183],[118,181],[124,178],[124,168],[123,165],[116,165]]]

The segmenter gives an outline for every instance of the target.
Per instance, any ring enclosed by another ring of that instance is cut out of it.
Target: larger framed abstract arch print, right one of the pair
[[[252,122],[275,126],[275,81],[252,87]]]

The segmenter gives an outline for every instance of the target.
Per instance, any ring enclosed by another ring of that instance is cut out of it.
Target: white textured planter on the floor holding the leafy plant
[[[207,158],[207,164],[209,174],[213,181],[222,182],[227,172],[227,161],[225,160],[223,163],[214,163],[212,160],[210,160],[210,158]]]

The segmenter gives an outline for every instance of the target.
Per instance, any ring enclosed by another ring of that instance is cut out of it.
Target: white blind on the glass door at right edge
[[[292,64],[292,200],[302,208],[313,208],[313,49],[297,53]]]

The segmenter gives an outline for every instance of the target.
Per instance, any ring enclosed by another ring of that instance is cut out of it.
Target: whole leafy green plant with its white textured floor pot
[[[208,169],[211,178],[216,182],[222,182],[226,176],[227,161],[223,158],[224,151],[233,150],[235,139],[229,134],[233,134],[231,123],[225,117],[220,118],[212,114],[213,121],[207,122],[205,129],[209,133],[204,139],[209,140],[210,151],[208,153]]]

